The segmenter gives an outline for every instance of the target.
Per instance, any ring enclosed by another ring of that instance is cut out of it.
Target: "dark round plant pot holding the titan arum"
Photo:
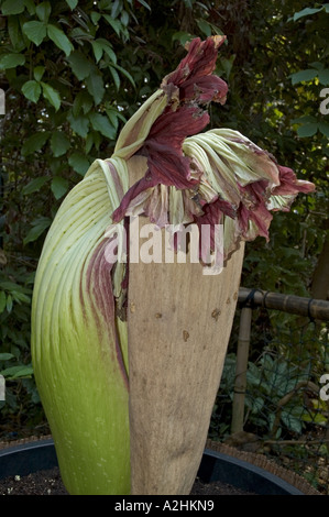
[[[57,466],[52,439],[18,444],[0,450],[0,479],[28,475]],[[205,449],[198,470],[205,483],[221,482],[259,495],[304,495],[281,477],[246,461]]]

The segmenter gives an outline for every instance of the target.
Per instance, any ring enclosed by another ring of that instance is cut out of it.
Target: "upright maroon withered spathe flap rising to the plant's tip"
[[[193,188],[198,180],[190,177],[190,158],[183,154],[183,142],[199,133],[209,123],[209,114],[201,106],[210,101],[223,103],[228,85],[212,76],[218,48],[226,36],[195,38],[188,53],[175,72],[167,75],[161,87],[167,94],[168,106],[156,119],[138,154],[147,157],[145,176],[123,196],[112,219],[119,222],[130,202],[144,190],[156,185]]]

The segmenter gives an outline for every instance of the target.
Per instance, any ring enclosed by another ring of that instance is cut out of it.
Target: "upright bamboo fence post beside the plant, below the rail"
[[[243,430],[244,398],[245,398],[245,388],[246,388],[246,370],[248,370],[248,358],[249,358],[249,346],[250,346],[251,318],[252,318],[252,309],[249,307],[244,307],[241,310],[241,317],[240,317],[234,395],[233,395],[233,405],[232,405],[231,435]]]

